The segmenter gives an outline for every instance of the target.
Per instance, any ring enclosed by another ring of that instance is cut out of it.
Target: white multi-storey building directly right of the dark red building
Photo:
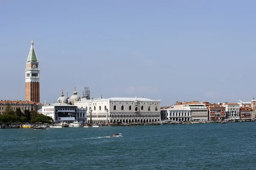
[[[227,119],[240,119],[240,107],[237,103],[223,103]]]

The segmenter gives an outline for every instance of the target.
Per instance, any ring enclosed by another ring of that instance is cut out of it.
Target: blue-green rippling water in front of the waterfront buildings
[[[0,169],[249,170],[255,129],[256,122],[0,129]]]

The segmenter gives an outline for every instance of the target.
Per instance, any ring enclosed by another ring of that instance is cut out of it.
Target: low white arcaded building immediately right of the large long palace
[[[191,120],[191,110],[186,108],[169,108],[161,110],[165,111],[168,120],[173,121],[190,121]]]

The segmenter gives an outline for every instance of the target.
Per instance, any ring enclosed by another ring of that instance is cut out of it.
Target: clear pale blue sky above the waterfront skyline
[[[0,99],[25,100],[34,41],[40,102],[82,96],[250,102],[254,0],[0,0]]]

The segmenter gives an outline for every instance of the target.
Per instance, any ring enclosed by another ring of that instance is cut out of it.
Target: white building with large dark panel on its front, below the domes
[[[85,114],[77,114],[77,106],[68,105],[66,103],[53,103],[53,104],[45,104],[38,111],[38,113],[42,113],[46,116],[50,116],[53,119],[53,122],[67,122],[71,123],[75,120],[78,120],[78,116],[85,116],[84,118],[79,118],[79,120],[86,121],[86,111]],[[79,111],[79,113],[82,113]]]

